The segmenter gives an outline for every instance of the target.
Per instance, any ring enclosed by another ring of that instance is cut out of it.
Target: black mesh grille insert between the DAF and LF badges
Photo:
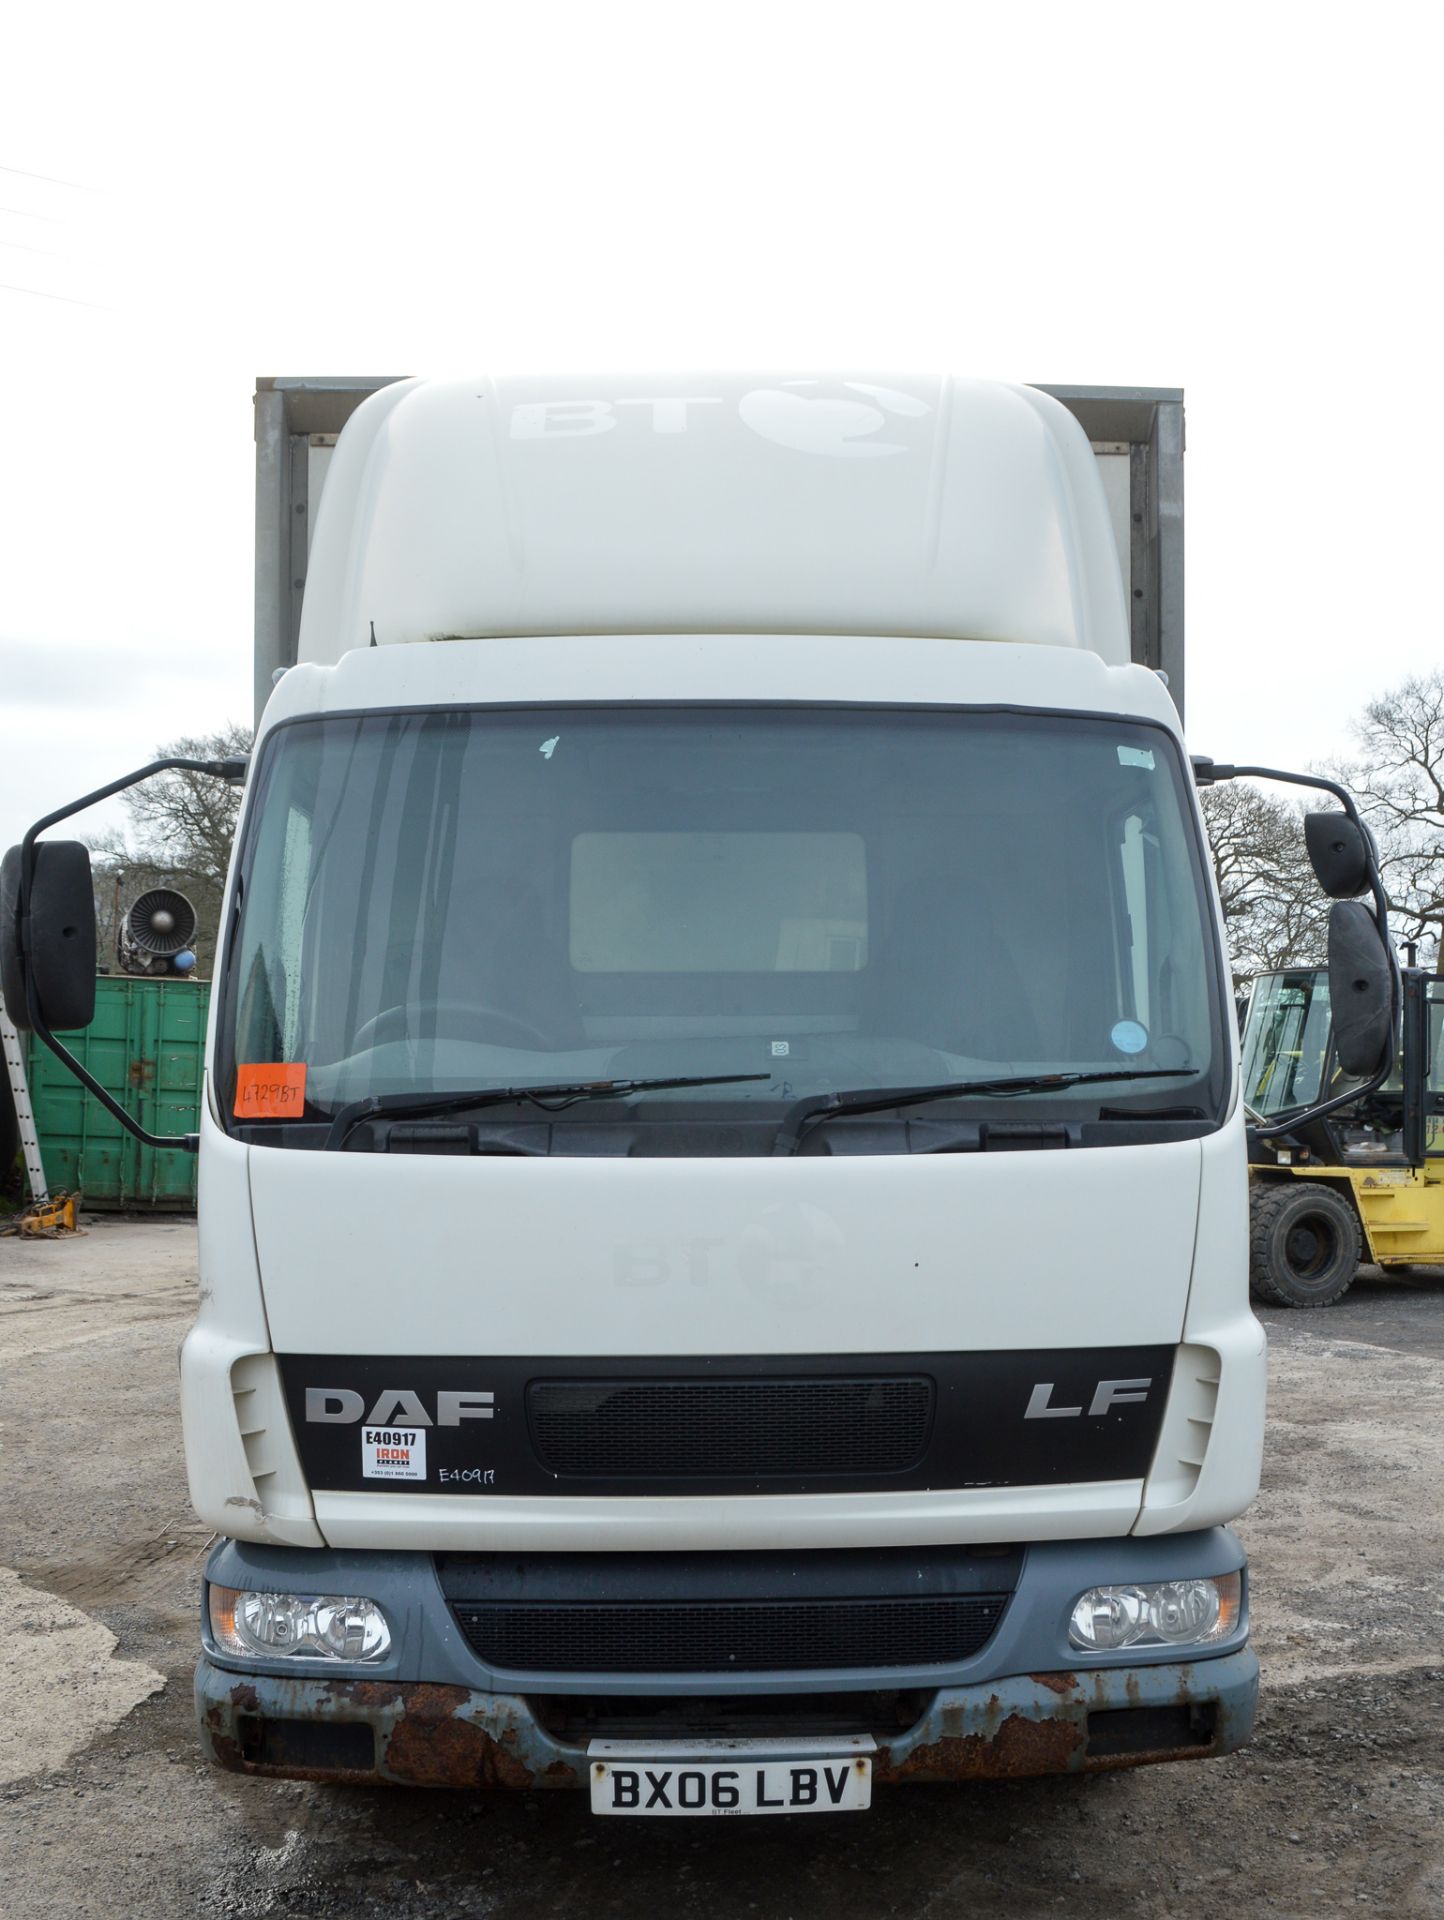
[[[526,1388],[542,1465],[588,1478],[904,1473],[922,1459],[931,1415],[926,1377],[534,1380]]]

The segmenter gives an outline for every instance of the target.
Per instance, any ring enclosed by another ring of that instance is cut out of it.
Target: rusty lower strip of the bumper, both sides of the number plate
[[[904,1734],[876,1736],[876,1778],[1022,1780],[1210,1759],[1244,1745],[1256,1697],[1258,1661],[1248,1649],[941,1688]],[[232,1772],[413,1788],[588,1782],[586,1747],[549,1734],[520,1693],[282,1680],[202,1659],[196,1715],[209,1759]],[[686,1732],[676,1738],[686,1753]]]

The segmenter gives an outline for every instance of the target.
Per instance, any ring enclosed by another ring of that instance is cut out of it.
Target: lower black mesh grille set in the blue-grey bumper
[[[467,1605],[488,1667],[522,1672],[787,1672],[931,1667],[977,1653],[1006,1594],[684,1605]]]

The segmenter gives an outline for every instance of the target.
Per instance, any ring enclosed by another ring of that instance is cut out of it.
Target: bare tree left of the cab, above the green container
[[[221,760],[250,747],[252,730],[232,722],[217,733],[173,739],[156,758]],[[121,920],[134,899],[150,887],[175,887],[196,908],[196,962],[209,973],[240,789],[211,774],[157,774],[131,787],[125,810],[129,829],[90,841],[102,966],[115,964]]]

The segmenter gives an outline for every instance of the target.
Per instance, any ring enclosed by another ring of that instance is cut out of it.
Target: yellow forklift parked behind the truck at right
[[[1361,1260],[1392,1273],[1444,1265],[1444,979],[1411,948],[1408,962],[1392,1071],[1354,1100],[1338,972],[1333,991],[1327,968],[1254,981],[1242,1033],[1250,1286],[1269,1306],[1333,1306]],[[1321,1100],[1336,1104],[1288,1125]]]

